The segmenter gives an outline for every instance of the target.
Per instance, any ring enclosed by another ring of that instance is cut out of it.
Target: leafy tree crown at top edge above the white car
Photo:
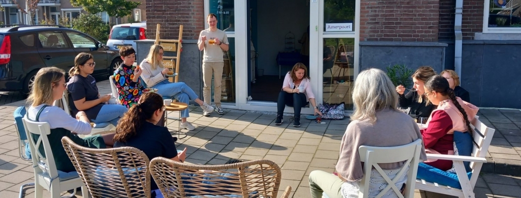
[[[125,17],[132,15],[134,8],[141,5],[141,2],[131,2],[126,0],[71,0],[73,6],[82,6],[90,14],[106,11],[108,16]]]

